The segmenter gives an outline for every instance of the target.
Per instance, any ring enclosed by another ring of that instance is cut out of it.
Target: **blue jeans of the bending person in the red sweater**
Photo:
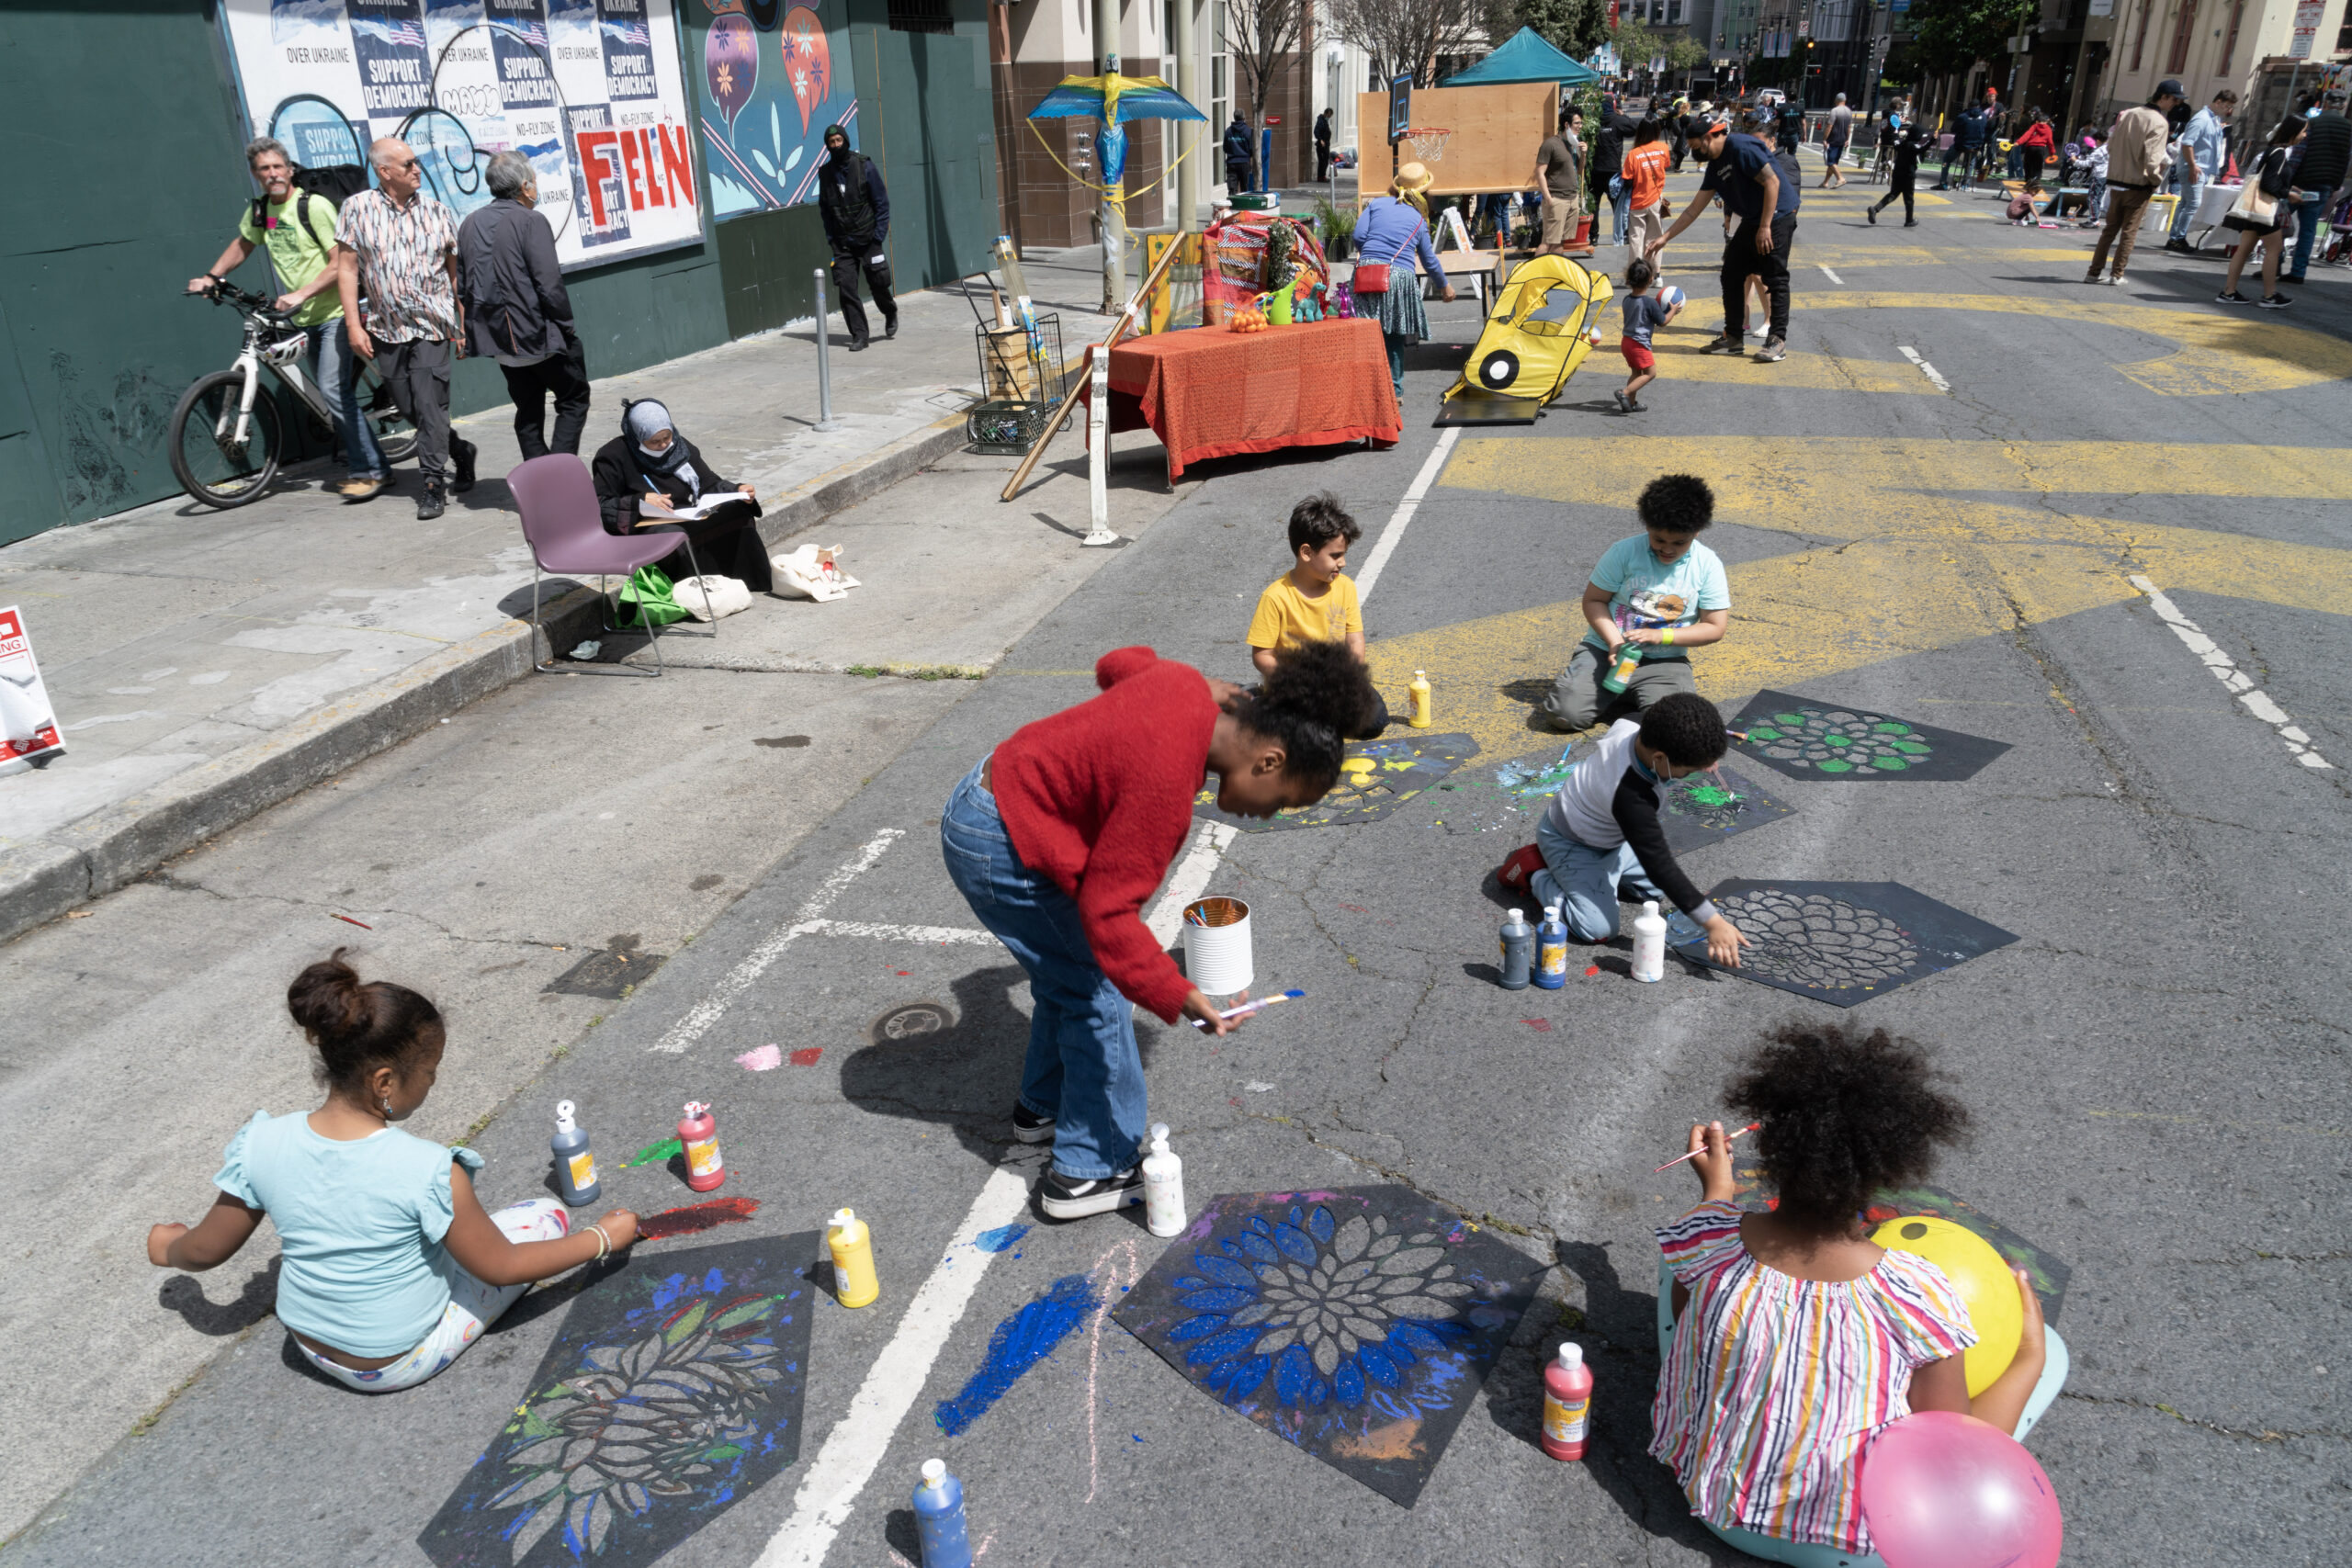
[[[983,759],[964,773],[948,797],[938,851],[955,891],[1030,978],[1021,1105],[1054,1117],[1056,1171],[1103,1180],[1131,1168],[1143,1145],[1134,1009],[1094,961],[1077,903],[1051,877],[1021,865],[997,797],[981,783],[985,766]]]

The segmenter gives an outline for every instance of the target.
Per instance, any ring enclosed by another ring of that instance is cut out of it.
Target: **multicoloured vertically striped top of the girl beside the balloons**
[[[1839,1284],[1764,1267],[1736,1204],[1663,1225],[1658,1248],[1691,1305],[1658,1373],[1651,1458],[1708,1523],[1870,1552],[1853,1460],[1910,1415],[1915,1368],[1976,1345],[1959,1291],[1912,1253]]]

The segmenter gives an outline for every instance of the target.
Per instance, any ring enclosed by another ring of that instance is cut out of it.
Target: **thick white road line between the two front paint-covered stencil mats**
[[[753,1568],[816,1568],[826,1561],[833,1537],[842,1533],[849,1512],[858,1505],[858,1493],[873,1479],[882,1455],[889,1453],[898,1422],[915,1408],[922,1385],[931,1378],[931,1363],[962,1321],[971,1293],[988,1272],[995,1253],[985,1253],[974,1241],[983,1229],[1011,1225],[1028,1208],[1028,1178],[1009,1166],[997,1166],[971,1199],[964,1222],[948,1244],[948,1255],[938,1260],[931,1276],[915,1291],[898,1333],[875,1356],[866,1385],[849,1401],[849,1408],[816,1462],[793,1493],[793,1514],[783,1521]]]

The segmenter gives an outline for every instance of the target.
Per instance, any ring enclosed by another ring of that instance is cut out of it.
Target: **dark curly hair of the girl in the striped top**
[[[1785,1023],[1724,1084],[1724,1105],[1762,1121],[1757,1159],[1776,1213],[1823,1234],[1853,1222],[1882,1187],[1924,1180],[1938,1147],[1969,1131],[1969,1107],[1936,1088],[1926,1051],[1886,1030]]]

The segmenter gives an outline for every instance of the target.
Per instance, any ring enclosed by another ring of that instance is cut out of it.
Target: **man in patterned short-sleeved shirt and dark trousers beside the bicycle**
[[[350,348],[374,360],[400,411],[416,425],[426,494],[416,517],[440,517],[445,489],[473,489],[475,447],[449,435],[449,360],[463,339],[456,303],[456,219],[423,193],[416,153],[386,136],[367,148],[376,190],[343,202],[334,237],[343,256],[343,322]],[[360,315],[360,296],[367,315]],[[445,487],[442,470],[456,463]]]

